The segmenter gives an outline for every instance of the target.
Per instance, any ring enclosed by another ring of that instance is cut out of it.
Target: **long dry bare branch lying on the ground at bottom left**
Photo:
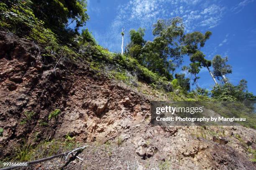
[[[42,158],[42,159],[39,159],[39,160],[32,160],[30,162],[26,162],[29,165],[32,165],[32,164],[35,164],[35,163],[41,163],[41,162],[44,162],[46,160],[51,160],[53,158],[57,158],[57,157],[61,157],[61,156],[68,156],[69,154],[75,152],[75,151],[78,151],[78,150],[83,150],[85,147],[88,147],[89,145],[86,145],[84,147],[81,147],[81,148],[77,148],[77,149],[74,149],[74,150],[71,150],[71,151],[68,151],[68,152],[65,152],[65,153],[60,153],[58,155],[53,155],[53,156],[50,156],[50,157],[47,157],[47,158]],[[67,157],[66,157],[67,159]],[[65,159],[65,160],[66,160]],[[1,168],[0,170],[13,170],[13,169],[16,169],[16,168],[21,168],[22,166],[9,166],[9,167],[5,167],[5,168]]]

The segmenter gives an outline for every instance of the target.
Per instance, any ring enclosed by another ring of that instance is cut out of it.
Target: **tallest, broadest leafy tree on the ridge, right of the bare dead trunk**
[[[170,72],[183,61],[181,42],[184,25],[181,18],[173,18],[158,20],[153,27],[154,40],[146,42],[142,48],[143,65],[170,79]]]

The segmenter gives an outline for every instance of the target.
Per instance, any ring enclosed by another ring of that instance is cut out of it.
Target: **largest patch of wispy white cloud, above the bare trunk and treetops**
[[[130,29],[143,27],[151,30],[158,19],[176,16],[183,19],[186,32],[214,28],[223,18],[225,7],[220,3],[205,3],[202,0],[130,0],[117,7],[118,13],[108,29],[111,37],[102,35],[99,41],[106,42],[111,51],[119,51],[121,28],[125,27],[127,43]]]

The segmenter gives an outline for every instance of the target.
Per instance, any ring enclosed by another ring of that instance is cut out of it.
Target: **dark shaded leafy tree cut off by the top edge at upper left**
[[[31,0],[35,16],[44,21],[45,26],[61,35],[67,30],[69,22],[76,22],[74,32],[89,19],[86,0]]]

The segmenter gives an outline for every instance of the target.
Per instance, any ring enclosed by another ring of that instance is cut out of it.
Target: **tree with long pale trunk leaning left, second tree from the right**
[[[198,32],[198,31],[188,33],[187,35],[184,36],[184,44],[185,44],[184,48],[187,51],[187,54],[190,56],[190,61],[199,62],[200,65],[202,65],[203,67],[206,67],[215,84],[218,84],[210,70],[211,61],[206,60],[205,55],[200,51],[201,47],[205,46],[206,40],[208,40],[211,35],[212,35],[212,32],[210,31],[205,32],[205,34],[202,34],[201,32]]]

